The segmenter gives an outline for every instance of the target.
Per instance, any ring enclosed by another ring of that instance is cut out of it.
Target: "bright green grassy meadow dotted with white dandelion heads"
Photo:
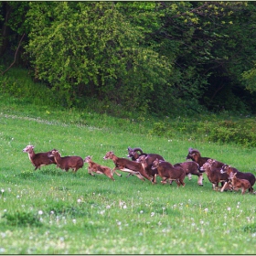
[[[185,187],[141,181],[136,176],[90,176],[56,165],[34,171],[22,149],[57,148],[61,155],[93,155],[101,165],[107,151],[125,157],[128,146],[185,161],[188,147],[256,175],[255,148],[203,144],[182,136],[129,133],[105,118],[99,126],[70,113],[0,104],[0,253],[2,254],[254,254],[255,195],[216,192],[204,175]],[[133,127],[131,127],[133,131]],[[120,172],[122,173],[122,172]],[[255,189],[255,186],[254,186]]]

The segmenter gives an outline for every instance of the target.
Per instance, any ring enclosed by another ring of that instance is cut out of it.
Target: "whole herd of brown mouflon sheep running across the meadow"
[[[88,173],[91,176],[96,174],[103,174],[114,180],[113,175],[122,176],[117,173],[116,170],[127,172],[130,175],[137,176],[144,180],[148,179],[152,184],[156,183],[156,176],[162,178],[161,183],[165,184],[169,181],[172,184],[176,181],[177,186],[185,186],[184,179],[188,176],[191,179],[191,175],[197,176],[197,184],[203,186],[203,173],[208,176],[208,180],[212,183],[214,190],[223,192],[224,190],[241,190],[241,194],[244,194],[248,189],[250,193],[253,193],[253,185],[255,183],[255,176],[251,173],[243,173],[230,165],[226,165],[217,160],[209,157],[202,157],[197,149],[189,148],[186,159],[192,161],[186,161],[184,163],[178,163],[172,165],[165,161],[164,157],[157,154],[146,154],[139,147],[128,147],[128,157],[118,157],[114,155],[112,151],[107,152],[103,157],[104,160],[111,159],[115,165],[113,169],[108,166],[99,165],[92,161],[90,155],[86,156],[83,160],[80,156],[61,156],[59,151],[53,149],[45,153],[35,153],[34,146],[29,144],[23,149],[23,152],[28,154],[28,158],[32,165],[40,169],[43,165],[57,165],[66,172],[72,169],[77,172],[82,168],[84,163],[88,164]],[[219,187],[221,184],[221,187]]]

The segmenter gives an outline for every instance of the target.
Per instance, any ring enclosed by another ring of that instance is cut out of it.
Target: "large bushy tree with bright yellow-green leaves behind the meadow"
[[[27,18],[35,75],[69,105],[90,95],[145,108],[153,84],[170,74],[167,59],[144,45],[144,35],[111,2],[31,2]]]

